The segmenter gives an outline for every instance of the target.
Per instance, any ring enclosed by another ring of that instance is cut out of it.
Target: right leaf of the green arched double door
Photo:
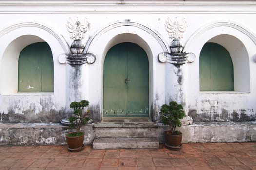
[[[148,115],[148,58],[145,51],[135,44],[128,44],[128,49],[133,49],[133,51],[127,52],[128,114]]]

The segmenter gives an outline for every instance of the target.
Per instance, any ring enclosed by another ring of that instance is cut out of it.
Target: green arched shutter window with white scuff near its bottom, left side
[[[53,92],[53,56],[46,42],[25,47],[19,56],[18,91]]]

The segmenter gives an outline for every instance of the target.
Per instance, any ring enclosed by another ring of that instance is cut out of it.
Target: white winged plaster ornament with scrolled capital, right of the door
[[[183,37],[183,34],[187,28],[187,23],[185,18],[182,23],[177,21],[172,22],[170,18],[167,18],[166,21],[166,31],[169,34],[169,38],[173,39],[171,42],[171,53],[162,52],[158,55],[158,60],[160,62],[168,62],[172,64],[185,64],[195,61],[195,54],[183,52],[184,47],[182,46],[180,39]]]

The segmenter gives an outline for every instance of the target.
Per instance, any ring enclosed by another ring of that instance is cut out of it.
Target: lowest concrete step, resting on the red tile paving
[[[95,138],[93,149],[159,148],[156,138]]]

